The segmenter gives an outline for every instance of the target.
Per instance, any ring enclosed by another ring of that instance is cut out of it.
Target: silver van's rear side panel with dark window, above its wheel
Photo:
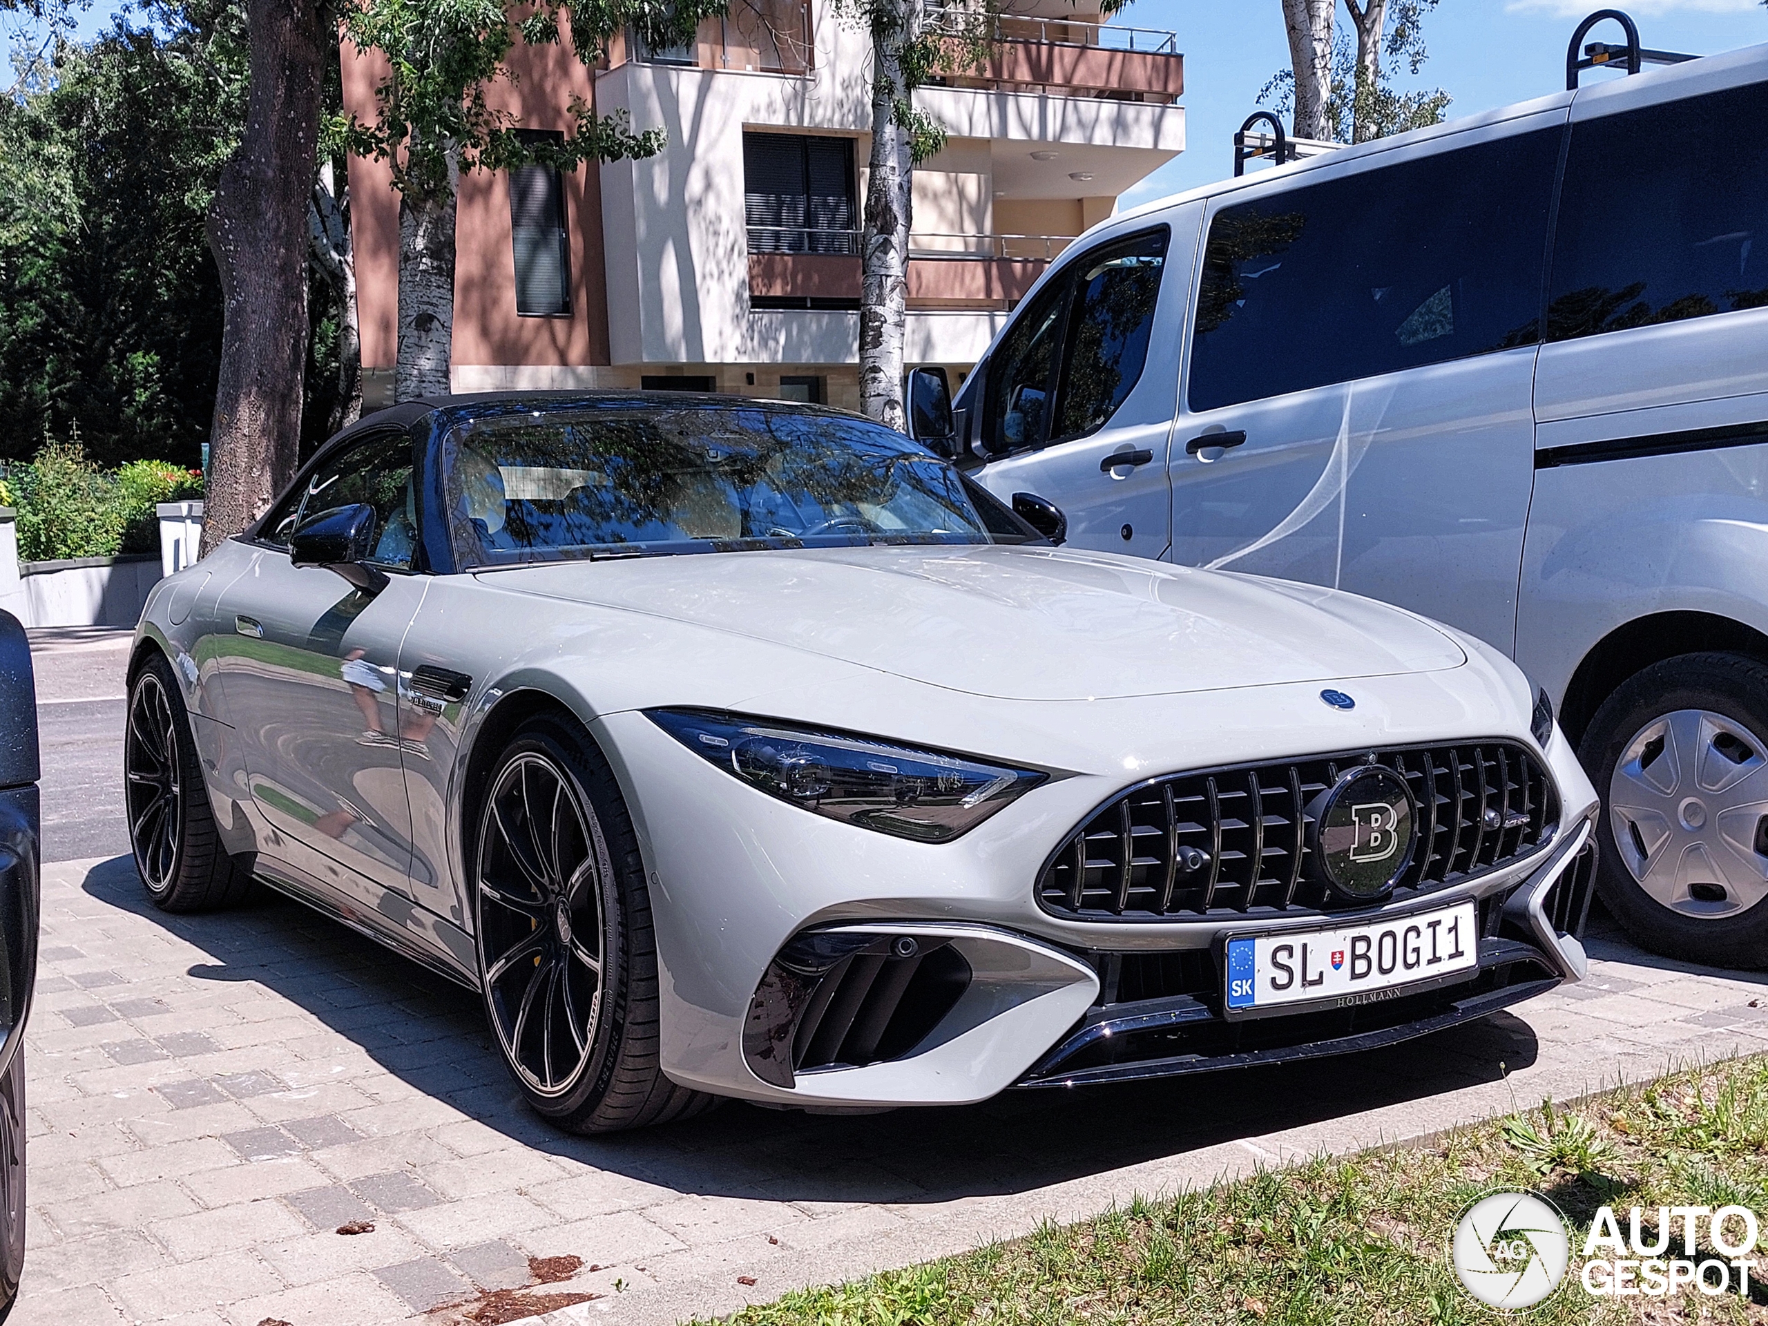
[[[1734,129],[1768,117],[1764,74],[1738,51],[1572,108],[1517,661],[1582,718],[1602,697],[1565,688],[1611,631],[1768,624],[1768,141]]]

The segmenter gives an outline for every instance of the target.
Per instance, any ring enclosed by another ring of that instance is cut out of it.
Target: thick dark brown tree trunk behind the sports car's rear
[[[205,226],[223,299],[205,553],[263,514],[301,454],[308,191],[329,34],[313,0],[255,0],[246,18],[246,126],[216,180]]]

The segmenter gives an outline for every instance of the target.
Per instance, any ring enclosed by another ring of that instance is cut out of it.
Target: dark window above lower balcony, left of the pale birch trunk
[[[859,253],[854,140],[743,134],[750,253]]]

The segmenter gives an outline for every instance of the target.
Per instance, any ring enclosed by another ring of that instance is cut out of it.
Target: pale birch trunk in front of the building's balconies
[[[914,164],[909,129],[896,122],[902,44],[912,0],[895,23],[872,25],[872,161],[861,232],[859,408],[886,428],[903,428],[902,343],[909,308],[909,223]]]

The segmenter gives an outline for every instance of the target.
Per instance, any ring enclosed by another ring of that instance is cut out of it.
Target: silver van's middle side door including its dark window
[[[1563,122],[1561,104],[1211,203],[1172,560],[1512,647]]]

